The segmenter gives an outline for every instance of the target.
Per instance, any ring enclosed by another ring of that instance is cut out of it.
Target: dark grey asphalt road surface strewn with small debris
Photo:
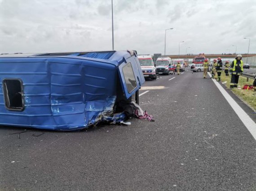
[[[256,140],[212,79],[188,70],[146,81],[143,92],[155,122],[0,127],[0,191],[256,191]]]

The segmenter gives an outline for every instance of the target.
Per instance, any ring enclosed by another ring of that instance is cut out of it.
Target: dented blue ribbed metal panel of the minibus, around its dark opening
[[[71,131],[98,123],[103,111],[113,109],[117,69],[113,64],[91,62],[69,58],[0,60],[0,125]],[[23,82],[22,112],[7,110],[4,105],[2,81],[13,78]]]

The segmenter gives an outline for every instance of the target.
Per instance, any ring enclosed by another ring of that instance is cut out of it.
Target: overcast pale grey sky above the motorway
[[[243,54],[243,38],[256,53],[256,0],[113,0],[113,13],[115,50],[163,54],[166,31],[166,55]],[[108,50],[111,0],[0,0],[0,54]]]

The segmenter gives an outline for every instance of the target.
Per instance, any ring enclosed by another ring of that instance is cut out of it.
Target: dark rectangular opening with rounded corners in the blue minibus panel
[[[23,84],[18,79],[4,79],[4,103],[8,110],[24,110]]]

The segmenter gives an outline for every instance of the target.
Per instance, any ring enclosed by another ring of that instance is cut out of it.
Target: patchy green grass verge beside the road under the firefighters
[[[228,88],[230,88],[230,76],[225,76],[225,72],[221,72],[221,82],[227,81],[225,84]],[[240,76],[238,81],[238,86],[241,86],[241,89],[233,88],[232,92],[236,94],[239,98],[241,98],[244,102],[246,102],[249,106],[251,106],[254,110],[256,110],[256,91],[242,89],[244,85],[252,85],[254,80],[249,79],[247,81],[246,77]]]

